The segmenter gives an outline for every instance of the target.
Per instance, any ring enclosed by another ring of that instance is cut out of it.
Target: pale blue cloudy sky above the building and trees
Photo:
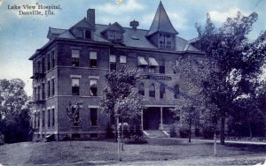
[[[161,0],[168,17],[180,37],[190,40],[197,37],[195,24],[204,26],[207,13],[216,26],[241,11],[245,16],[253,11],[259,19],[249,34],[254,40],[266,30],[266,0]],[[0,79],[20,78],[25,81],[25,90],[32,94],[32,62],[28,60],[36,49],[47,41],[49,26],[70,28],[86,17],[89,8],[96,11],[96,23],[118,22],[129,26],[133,19],[138,28],[149,29],[160,0],[0,0]],[[60,5],[51,10],[54,15],[20,15],[23,5]],[[11,9],[20,6],[20,10]],[[266,77],[266,76],[265,76]]]

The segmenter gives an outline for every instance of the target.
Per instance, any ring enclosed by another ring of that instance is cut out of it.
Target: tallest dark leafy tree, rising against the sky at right
[[[196,26],[200,49],[210,61],[216,62],[216,69],[204,82],[204,92],[207,102],[215,104],[221,119],[222,144],[225,117],[233,112],[233,101],[250,92],[252,84],[249,83],[261,72],[265,59],[265,33],[253,43],[247,38],[257,18],[255,12],[247,17],[238,12],[237,17],[228,18],[223,26],[215,28],[207,14],[206,26]]]

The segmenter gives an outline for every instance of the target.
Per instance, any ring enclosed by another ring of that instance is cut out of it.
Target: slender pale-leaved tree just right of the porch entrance
[[[172,111],[176,117],[180,117],[178,124],[181,132],[188,131],[189,142],[191,142],[192,124],[195,126],[200,124],[200,113],[205,107],[202,83],[209,77],[211,68],[214,66],[207,60],[197,57],[179,57],[173,65],[176,77],[182,79],[185,85],[185,93],[180,92],[176,108]]]

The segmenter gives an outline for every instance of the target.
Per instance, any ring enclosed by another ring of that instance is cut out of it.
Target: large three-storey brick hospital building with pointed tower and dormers
[[[177,57],[202,58],[203,53],[180,38],[160,3],[149,30],[115,22],[95,23],[95,10],[69,29],[49,28],[48,41],[29,59],[33,61],[35,138],[67,135],[84,139],[103,137],[108,117],[99,108],[105,73],[123,64],[144,76],[137,85],[145,95],[144,130],[157,130],[174,122],[169,108],[175,107],[178,92],[185,91],[172,64]],[[152,20],[151,20],[152,21]],[[80,123],[71,124],[68,102],[82,101]]]

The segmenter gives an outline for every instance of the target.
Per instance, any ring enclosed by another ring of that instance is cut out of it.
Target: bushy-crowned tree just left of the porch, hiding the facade
[[[103,111],[115,118],[116,124],[140,116],[142,100],[136,92],[137,79],[140,78],[138,72],[123,66],[119,71],[107,72],[105,77],[106,87],[100,99]]]

